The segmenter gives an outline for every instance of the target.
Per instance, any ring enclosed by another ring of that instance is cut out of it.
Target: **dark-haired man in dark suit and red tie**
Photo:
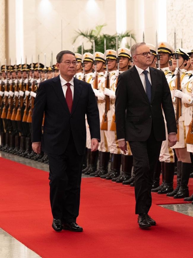
[[[91,133],[91,151],[96,151],[100,141],[99,111],[91,85],[74,77],[75,54],[61,51],[56,60],[60,75],[40,83],[34,101],[32,148],[40,153],[42,147],[48,153],[53,229],[83,231],[76,218],[86,147],[85,114]]]

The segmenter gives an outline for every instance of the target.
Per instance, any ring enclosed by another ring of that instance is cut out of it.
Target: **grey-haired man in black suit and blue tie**
[[[115,116],[119,147],[124,153],[129,142],[135,160],[135,213],[140,228],[156,222],[149,215],[153,174],[162,141],[165,140],[165,114],[170,147],[176,142],[176,121],[170,89],[164,72],[150,67],[149,47],[144,43],[132,46],[135,66],[119,75]]]

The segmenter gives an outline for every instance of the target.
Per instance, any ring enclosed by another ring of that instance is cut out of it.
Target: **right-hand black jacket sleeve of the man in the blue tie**
[[[162,81],[163,81],[162,108],[166,119],[167,132],[168,134],[177,133],[172,97],[171,97],[170,88],[167,83],[164,72],[162,72]]]

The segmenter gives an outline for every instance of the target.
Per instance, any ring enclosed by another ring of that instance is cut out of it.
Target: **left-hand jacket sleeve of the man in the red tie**
[[[42,120],[46,105],[46,91],[45,84],[40,83],[34,100],[34,109],[32,114],[31,125],[31,141],[41,142]]]

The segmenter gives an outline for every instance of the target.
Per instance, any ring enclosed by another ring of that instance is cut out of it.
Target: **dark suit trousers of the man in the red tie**
[[[80,205],[83,156],[78,155],[72,134],[65,152],[49,154],[50,204],[53,218],[76,222]]]

